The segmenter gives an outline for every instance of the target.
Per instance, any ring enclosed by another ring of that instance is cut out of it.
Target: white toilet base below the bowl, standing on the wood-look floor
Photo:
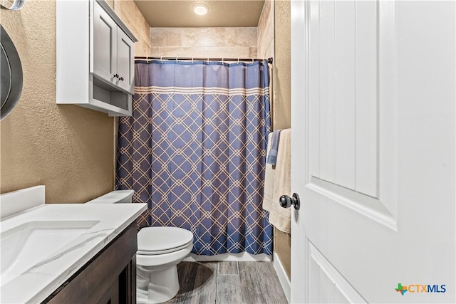
[[[179,291],[177,266],[150,271],[138,266],[136,271],[136,302],[138,304],[162,303],[171,300]]]

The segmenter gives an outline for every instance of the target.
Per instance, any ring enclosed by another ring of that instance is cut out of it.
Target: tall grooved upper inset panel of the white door
[[[311,169],[314,177],[375,197],[378,188],[376,6],[373,1],[359,4],[355,1],[311,1],[310,4],[310,85],[315,88],[309,92],[313,127],[310,167],[319,168]]]

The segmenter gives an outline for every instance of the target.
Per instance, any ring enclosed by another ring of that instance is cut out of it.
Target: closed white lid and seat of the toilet
[[[162,254],[186,248],[193,234],[177,227],[145,227],[138,232],[138,253]]]

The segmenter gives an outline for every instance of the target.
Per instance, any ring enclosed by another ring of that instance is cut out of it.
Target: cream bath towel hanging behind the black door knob
[[[268,150],[271,147],[269,135]],[[269,223],[276,229],[290,233],[291,208],[282,208],[279,204],[280,196],[291,196],[291,129],[280,133],[279,150],[277,151],[276,166],[266,164],[264,177],[263,209],[269,211]]]

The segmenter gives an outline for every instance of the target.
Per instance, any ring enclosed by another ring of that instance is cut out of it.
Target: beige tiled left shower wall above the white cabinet
[[[135,43],[135,56],[149,56],[150,52],[150,26],[142,16],[138,6],[133,0],[110,0],[108,4],[113,7],[120,19],[135,34],[138,42]]]

